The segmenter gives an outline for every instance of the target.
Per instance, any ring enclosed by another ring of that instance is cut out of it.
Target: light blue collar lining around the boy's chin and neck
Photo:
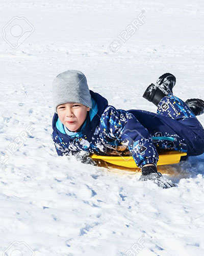
[[[90,120],[92,120],[93,117],[94,117],[94,116],[97,114],[97,112],[98,112],[98,106],[97,106],[96,101],[95,101],[93,98],[91,98],[91,101],[92,101],[92,108],[91,108],[90,111],[89,111]],[[82,126],[80,132],[74,133],[74,132],[69,131],[69,130],[67,129],[67,127],[66,127],[63,123],[61,123],[59,117],[58,117],[58,120],[57,120],[57,122],[56,122],[56,128],[57,128],[57,130],[59,130],[59,131],[60,131],[61,133],[63,133],[63,134],[67,134],[67,135],[69,135],[69,136],[77,136],[77,135],[79,136],[79,135],[81,134],[81,132],[84,130],[85,126],[86,126],[86,121],[84,122],[84,124],[83,124],[83,126]]]

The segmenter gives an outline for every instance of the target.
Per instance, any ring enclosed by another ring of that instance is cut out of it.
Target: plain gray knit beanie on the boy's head
[[[64,103],[81,103],[92,108],[86,76],[79,70],[67,70],[53,80],[53,103],[57,106]]]

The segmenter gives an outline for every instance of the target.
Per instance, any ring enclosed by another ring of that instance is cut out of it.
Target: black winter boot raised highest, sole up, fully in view
[[[175,82],[176,79],[174,75],[165,73],[158,78],[156,84],[151,83],[150,86],[147,87],[142,97],[157,106],[164,96],[173,94],[172,89],[175,86]]]

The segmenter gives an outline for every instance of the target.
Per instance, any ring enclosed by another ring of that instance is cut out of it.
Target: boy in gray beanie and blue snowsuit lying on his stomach
[[[196,115],[204,102],[175,97],[175,77],[166,73],[151,83],[143,97],[158,106],[157,115],[143,110],[121,110],[89,90],[85,75],[67,70],[53,81],[53,140],[59,156],[74,155],[95,164],[90,155],[132,155],[142,168],[140,180],[163,188],[174,186],[157,171],[159,152],[204,152],[204,129]]]

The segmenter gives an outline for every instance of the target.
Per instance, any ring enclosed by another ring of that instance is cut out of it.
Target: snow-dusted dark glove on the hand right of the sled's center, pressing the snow
[[[157,166],[155,165],[148,165],[142,167],[142,175],[139,181],[147,181],[151,180],[152,182],[156,183],[158,186],[162,188],[170,188],[174,187],[175,184],[171,181],[165,179],[161,173],[157,171]]]

